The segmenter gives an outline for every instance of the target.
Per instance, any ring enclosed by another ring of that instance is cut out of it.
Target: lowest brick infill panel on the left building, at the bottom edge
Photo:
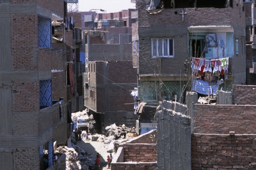
[[[13,170],[39,169],[39,148],[18,148],[13,151]]]

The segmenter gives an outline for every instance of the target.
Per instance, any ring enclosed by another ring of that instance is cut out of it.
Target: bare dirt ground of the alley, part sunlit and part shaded
[[[83,149],[85,152],[90,154],[91,163],[95,163],[96,155],[99,153],[101,155],[100,162],[102,165],[102,170],[108,169],[108,161],[106,161],[107,156],[110,153],[106,152],[108,149],[108,144],[104,144],[104,142],[90,141],[84,142],[83,140],[78,140],[77,145]],[[112,153],[112,156],[115,156],[115,153]]]

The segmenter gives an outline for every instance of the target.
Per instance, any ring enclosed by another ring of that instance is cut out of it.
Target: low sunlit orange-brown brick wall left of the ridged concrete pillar
[[[156,162],[156,144],[124,143],[124,162]]]

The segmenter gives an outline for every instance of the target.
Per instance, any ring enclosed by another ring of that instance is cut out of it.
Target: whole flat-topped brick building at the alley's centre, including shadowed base
[[[134,114],[131,92],[137,86],[137,70],[132,61],[90,61],[87,69],[84,104],[100,122],[102,132],[104,127],[114,123],[135,127],[137,115]]]

